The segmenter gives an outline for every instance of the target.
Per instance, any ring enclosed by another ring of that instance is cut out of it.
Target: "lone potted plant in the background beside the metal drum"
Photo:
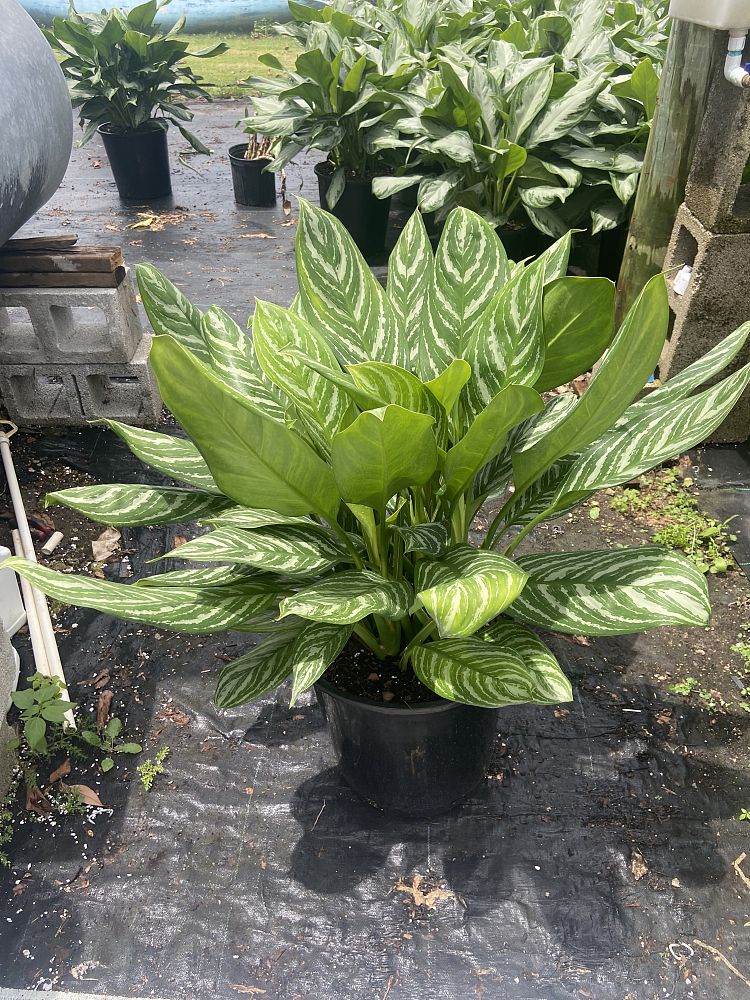
[[[180,38],[184,17],[161,32],[155,18],[169,2],[148,0],[130,11],[115,7],[82,14],[71,3],[67,17],[56,17],[43,29],[70,81],[73,107],[84,129],[80,144],[99,134],[125,200],[171,194],[170,124],[196,152],[210,153],[185,127],[193,118],[186,100],[211,97],[183,60],[220,55],[227,46],[188,51],[188,43]]]

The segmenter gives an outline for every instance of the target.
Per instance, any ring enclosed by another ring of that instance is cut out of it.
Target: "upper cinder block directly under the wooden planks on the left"
[[[0,289],[0,364],[117,364],[142,336],[129,272],[117,288]]]

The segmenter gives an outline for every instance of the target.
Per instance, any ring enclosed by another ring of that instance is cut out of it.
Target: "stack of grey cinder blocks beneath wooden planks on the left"
[[[132,276],[119,268],[112,285],[0,287],[0,398],[12,420],[158,422],[161,400]]]

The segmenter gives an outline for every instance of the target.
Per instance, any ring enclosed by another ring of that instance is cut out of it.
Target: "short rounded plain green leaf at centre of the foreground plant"
[[[360,413],[331,447],[343,499],[383,510],[399,490],[424,485],[438,464],[433,425],[427,414],[401,406]]]

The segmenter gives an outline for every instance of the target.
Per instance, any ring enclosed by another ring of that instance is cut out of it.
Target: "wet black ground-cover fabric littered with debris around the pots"
[[[196,131],[225,150],[240,111],[201,112]],[[101,150],[76,151],[26,234],[121,244],[132,263],[153,261],[196,304],[241,321],[255,296],[288,302],[294,208],[291,219],[238,209],[226,156],[193,162],[200,175],[175,161],[170,211],[184,217],[128,229],[146,210],[121,206]],[[311,176],[310,164],[290,170],[290,193],[312,194]],[[99,429],[25,432],[14,448],[31,509],[52,486],[158,481]],[[747,451],[695,461],[701,502],[742,515]],[[89,568],[101,529],[52,516],[66,538],[51,564]],[[750,564],[750,524],[735,525],[737,559]],[[152,572],[148,560],[192,530],[123,531],[106,574],[129,572],[124,554],[136,575]],[[583,508],[530,544],[646,539],[602,497],[597,520]],[[731,649],[750,601],[739,569],[710,586],[705,630],[551,637],[574,702],[504,712],[485,785],[429,822],[384,816],[347,789],[312,697],[290,709],[282,689],[213,709],[217,670],[247,637],[172,636],[59,609],[73,697],[93,711],[98,694],[82,682],[107,668],[113,711],[144,753],[104,776],[76,765],[111,813],[17,823],[0,873],[0,987],[169,1000],[750,995],[750,823],[738,818],[750,808],[750,714]],[[716,707],[698,689],[670,691],[688,676]],[[163,746],[165,773],[146,791],[135,767]]]

